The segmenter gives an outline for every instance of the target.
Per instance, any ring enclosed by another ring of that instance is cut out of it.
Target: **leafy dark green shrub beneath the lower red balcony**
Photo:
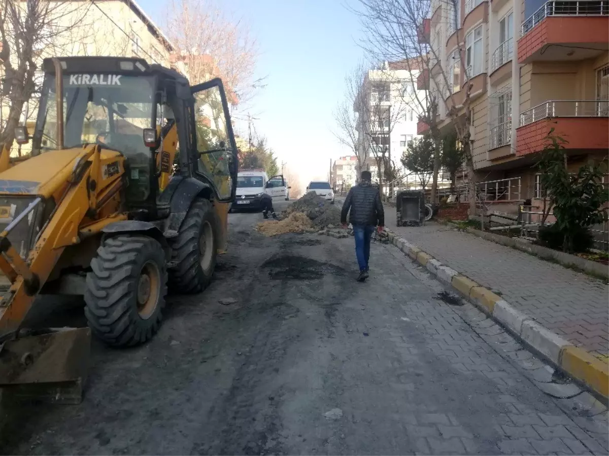
[[[565,144],[560,136],[554,135],[554,128],[546,137],[546,147],[537,161],[540,184],[554,207],[556,223],[544,236],[551,238],[552,244],[560,233],[563,252],[575,252],[576,243],[586,228],[607,220],[607,210],[603,208],[609,201],[609,190],[602,184],[604,161],[585,165],[577,173],[569,173]],[[540,230],[541,231],[545,230]],[[550,234],[552,233],[552,234]]]

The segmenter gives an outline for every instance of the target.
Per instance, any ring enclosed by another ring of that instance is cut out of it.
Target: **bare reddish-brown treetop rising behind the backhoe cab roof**
[[[214,0],[171,0],[166,28],[192,84],[220,76],[233,104],[241,105],[262,87],[255,78],[256,40],[244,21],[228,18]]]

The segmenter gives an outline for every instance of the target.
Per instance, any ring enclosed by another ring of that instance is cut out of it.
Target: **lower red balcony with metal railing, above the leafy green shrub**
[[[516,154],[543,149],[547,134],[565,139],[569,150],[605,150],[609,145],[609,101],[550,100],[520,114]]]

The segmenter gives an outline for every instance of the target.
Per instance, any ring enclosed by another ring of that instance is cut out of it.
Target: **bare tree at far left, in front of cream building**
[[[65,55],[58,46],[69,42],[66,37],[75,27],[90,33],[85,22],[90,7],[88,2],[70,0],[0,0],[0,66],[4,73],[0,143],[12,144],[21,117],[25,114],[27,119],[36,110],[27,103],[41,82],[41,58]]]

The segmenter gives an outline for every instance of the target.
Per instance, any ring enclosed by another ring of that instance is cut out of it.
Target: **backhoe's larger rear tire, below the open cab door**
[[[181,294],[203,291],[211,282],[216,268],[216,213],[208,199],[192,203],[178,235],[169,240],[172,263],[169,288]]]

